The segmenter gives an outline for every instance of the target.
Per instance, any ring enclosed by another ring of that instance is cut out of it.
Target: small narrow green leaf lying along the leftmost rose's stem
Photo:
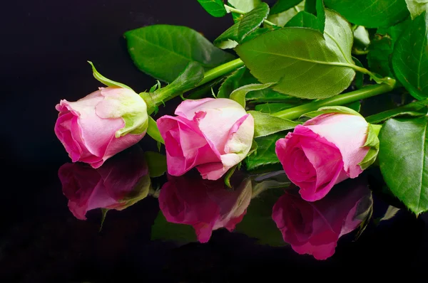
[[[160,97],[167,97],[169,95],[186,92],[198,85],[198,83],[203,79],[203,75],[204,71],[199,63],[189,62],[183,72],[180,73],[173,82],[156,90],[154,93]]]

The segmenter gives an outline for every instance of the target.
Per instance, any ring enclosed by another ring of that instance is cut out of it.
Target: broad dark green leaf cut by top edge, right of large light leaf
[[[366,28],[393,26],[409,15],[404,0],[324,0],[324,4]]]

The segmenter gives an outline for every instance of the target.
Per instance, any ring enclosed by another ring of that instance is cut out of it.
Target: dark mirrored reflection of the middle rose
[[[251,193],[249,180],[229,191],[223,181],[168,176],[159,193],[159,206],[168,222],[192,225],[198,241],[208,242],[213,230],[232,231],[243,220]]]

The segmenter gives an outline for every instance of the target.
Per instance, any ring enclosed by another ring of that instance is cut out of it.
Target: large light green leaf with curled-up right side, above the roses
[[[325,13],[325,39],[310,28],[282,28],[235,50],[260,82],[278,82],[272,87],[277,92],[307,99],[337,95],[355,77],[352,30],[340,15],[329,10]]]

